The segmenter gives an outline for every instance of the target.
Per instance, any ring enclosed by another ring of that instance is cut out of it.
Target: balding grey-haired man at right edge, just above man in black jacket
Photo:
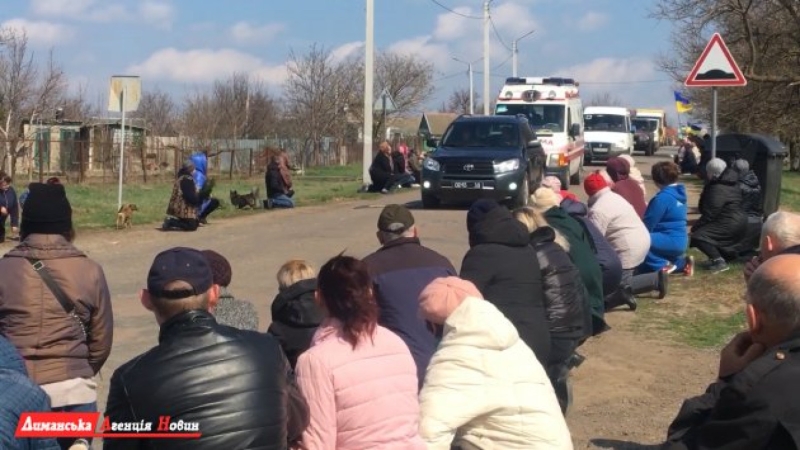
[[[761,227],[759,255],[744,266],[745,281],[761,263],[781,253],[800,253],[800,215],[786,211],[770,214]]]

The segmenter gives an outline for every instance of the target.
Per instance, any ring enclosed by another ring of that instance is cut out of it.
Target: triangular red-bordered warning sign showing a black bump
[[[746,86],[747,80],[719,33],[714,33],[684,82],[689,87]]]

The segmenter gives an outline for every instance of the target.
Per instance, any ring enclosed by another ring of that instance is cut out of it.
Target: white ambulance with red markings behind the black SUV
[[[581,183],[584,158],[583,105],[572,78],[507,78],[496,115],[524,115],[546,154],[545,175],[562,186]]]

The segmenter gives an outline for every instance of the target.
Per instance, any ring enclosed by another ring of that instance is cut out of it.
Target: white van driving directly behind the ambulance
[[[618,106],[588,106],[583,110],[586,162],[602,162],[633,154],[631,113]]]

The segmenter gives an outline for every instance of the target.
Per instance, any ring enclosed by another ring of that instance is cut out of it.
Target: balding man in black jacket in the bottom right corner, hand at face
[[[796,449],[800,444],[800,255],[761,265],[747,285],[748,331],[722,350],[719,379],[684,402],[666,450]]]

